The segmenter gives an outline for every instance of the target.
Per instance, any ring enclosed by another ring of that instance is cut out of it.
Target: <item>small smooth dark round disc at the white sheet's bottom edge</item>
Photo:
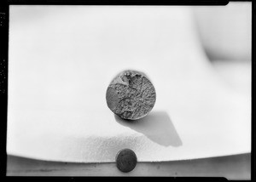
[[[116,166],[120,171],[128,173],[132,171],[137,164],[137,156],[130,149],[123,149],[116,155]]]

